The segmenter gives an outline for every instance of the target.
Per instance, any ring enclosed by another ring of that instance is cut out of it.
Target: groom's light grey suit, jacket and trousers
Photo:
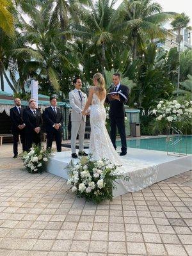
[[[81,100],[82,97],[82,100]],[[86,116],[83,116],[81,112],[84,109],[84,106],[87,101],[86,94],[81,92],[81,97],[79,96],[79,92],[77,89],[72,90],[68,93],[68,99],[70,102],[70,106],[72,108],[71,111],[71,150],[72,154],[76,153],[76,139],[77,133],[79,134],[79,151],[83,151],[83,142],[84,142],[84,131],[85,131],[85,123]]]

